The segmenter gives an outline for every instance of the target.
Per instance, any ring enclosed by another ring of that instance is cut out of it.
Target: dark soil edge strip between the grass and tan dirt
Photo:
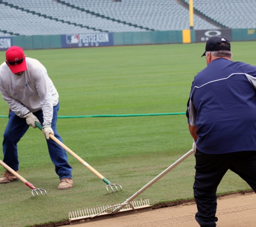
[[[234,195],[234,194],[241,194],[244,195],[246,193],[253,193],[253,190],[241,190],[241,191],[233,191],[230,193],[223,193],[223,194],[219,194],[217,195],[217,198],[219,197],[224,197],[227,195]],[[177,200],[177,201],[171,201],[171,202],[162,202],[162,203],[158,203],[153,205],[152,209],[160,209],[160,208],[164,208],[164,207],[174,207],[176,205],[182,205],[184,203],[195,203],[195,199],[191,198],[188,200]],[[45,224],[39,224],[39,225],[30,225],[27,227],[57,227],[57,226],[63,226],[63,225],[70,225],[70,222],[67,220],[64,221],[60,221],[60,222],[50,222],[50,223],[45,223]]]

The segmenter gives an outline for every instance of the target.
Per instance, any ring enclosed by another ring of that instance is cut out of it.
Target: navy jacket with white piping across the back
[[[197,126],[197,149],[256,151],[256,67],[218,58],[192,82],[186,116]]]

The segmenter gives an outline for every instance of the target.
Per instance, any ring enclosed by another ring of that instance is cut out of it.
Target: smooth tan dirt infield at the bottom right
[[[77,227],[198,227],[195,221],[195,202],[186,202],[172,207],[153,209],[137,214],[110,217],[99,221],[75,224]],[[237,193],[218,197],[218,227],[256,226],[256,194]],[[63,227],[67,225],[62,225]]]

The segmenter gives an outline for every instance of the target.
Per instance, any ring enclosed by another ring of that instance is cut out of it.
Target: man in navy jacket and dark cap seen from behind
[[[206,42],[202,56],[207,67],[192,82],[186,116],[196,158],[196,221],[213,227],[217,187],[229,169],[256,191],[256,67],[231,61],[230,42],[221,36]]]

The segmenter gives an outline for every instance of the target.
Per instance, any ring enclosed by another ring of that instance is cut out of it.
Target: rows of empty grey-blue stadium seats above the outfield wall
[[[0,31],[32,36],[190,29],[189,11],[178,2],[189,0],[5,0],[0,3]],[[194,0],[193,6],[228,28],[256,27],[255,1]],[[195,14],[193,18],[195,30],[220,28]]]

